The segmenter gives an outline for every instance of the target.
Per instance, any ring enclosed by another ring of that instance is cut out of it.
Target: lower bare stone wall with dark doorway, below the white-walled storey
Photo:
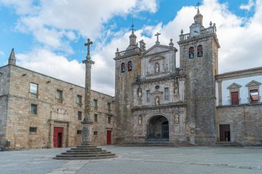
[[[262,104],[217,107],[216,141],[219,124],[230,124],[230,138],[245,146],[262,144]]]

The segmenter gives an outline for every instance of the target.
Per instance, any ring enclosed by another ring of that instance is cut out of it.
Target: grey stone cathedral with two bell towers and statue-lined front
[[[180,67],[172,39],[145,50],[132,30],[130,45],[117,50],[115,118],[117,142],[169,140],[192,144],[215,142],[215,76],[219,41],[216,26],[203,27],[194,17],[190,33],[180,34]]]

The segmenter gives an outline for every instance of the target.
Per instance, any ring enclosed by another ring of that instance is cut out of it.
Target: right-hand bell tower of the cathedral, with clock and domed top
[[[190,33],[179,35],[180,69],[186,75],[187,133],[194,144],[215,143],[215,76],[218,74],[219,40],[216,25],[203,27],[199,8]]]

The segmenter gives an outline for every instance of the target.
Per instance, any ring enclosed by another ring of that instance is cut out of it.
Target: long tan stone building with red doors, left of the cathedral
[[[9,149],[81,144],[85,89],[16,65],[14,50],[0,67],[0,142]],[[114,98],[92,91],[93,136],[111,144]]]

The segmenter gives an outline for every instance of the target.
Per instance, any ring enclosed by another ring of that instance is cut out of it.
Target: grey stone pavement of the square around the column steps
[[[106,160],[53,160],[66,149],[0,152],[2,173],[260,173],[262,147],[123,147]]]

